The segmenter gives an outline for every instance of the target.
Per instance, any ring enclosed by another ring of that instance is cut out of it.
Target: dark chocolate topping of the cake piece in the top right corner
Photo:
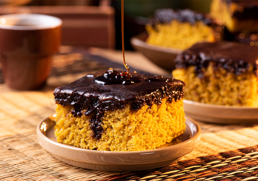
[[[239,20],[258,19],[257,0],[224,0],[228,5],[235,3],[239,8],[233,12],[232,17]]]

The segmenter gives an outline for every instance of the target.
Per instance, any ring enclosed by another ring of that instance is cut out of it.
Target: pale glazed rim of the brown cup
[[[42,24],[38,25],[7,25],[5,24],[7,20],[41,20]],[[52,29],[59,27],[63,24],[63,21],[54,16],[46,14],[35,14],[35,13],[15,13],[15,14],[4,14],[0,16],[0,29],[10,29],[10,30],[38,30],[38,29]]]

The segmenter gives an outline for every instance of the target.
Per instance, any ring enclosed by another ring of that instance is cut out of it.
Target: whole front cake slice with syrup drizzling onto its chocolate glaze
[[[125,76],[109,70],[56,88],[57,140],[86,149],[138,151],[179,137],[185,131],[185,83],[138,73]]]

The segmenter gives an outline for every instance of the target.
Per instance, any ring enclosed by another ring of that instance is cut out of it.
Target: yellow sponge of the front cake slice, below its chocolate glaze
[[[101,137],[92,138],[91,116],[70,114],[72,106],[57,104],[55,135],[59,142],[85,149],[102,151],[139,151],[155,149],[171,142],[185,131],[183,99],[162,100],[151,108],[144,105],[138,111],[130,104],[107,111],[101,118]]]

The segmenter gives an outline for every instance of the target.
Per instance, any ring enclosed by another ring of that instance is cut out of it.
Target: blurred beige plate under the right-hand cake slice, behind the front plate
[[[257,123],[258,108],[205,104],[184,100],[184,112],[191,118],[208,123]]]

